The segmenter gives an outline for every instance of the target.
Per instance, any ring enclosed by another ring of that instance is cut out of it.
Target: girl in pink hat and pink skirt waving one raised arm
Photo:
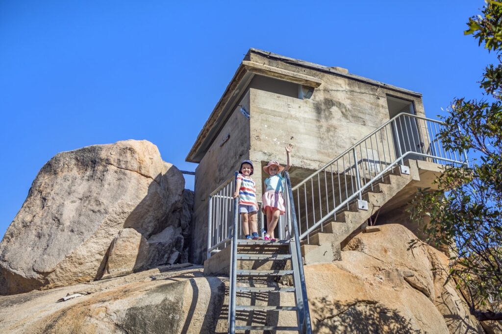
[[[283,197],[284,177],[281,173],[283,171],[288,171],[290,168],[290,155],[292,149],[293,144],[286,145],[286,167],[283,167],[279,162],[272,160],[269,161],[269,163],[263,168],[264,172],[270,175],[269,178],[265,179],[265,193],[262,198],[263,210],[267,215],[267,233],[264,237],[265,240],[276,241],[274,238],[274,229],[279,221],[279,216],[286,213]]]

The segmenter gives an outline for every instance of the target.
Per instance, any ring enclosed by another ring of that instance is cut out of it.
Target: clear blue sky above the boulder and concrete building
[[[60,151],[147,139],[182,170],[250,47],[423,93],[479,97],[483,1],[0,2],[0,237]],[[187,188],[193,180],[187,178]]]

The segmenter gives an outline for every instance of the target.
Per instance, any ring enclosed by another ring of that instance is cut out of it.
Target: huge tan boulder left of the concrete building
[[[181,225],[184,179],[149,141],[61,152],[40,170],[0,243],[0,294],[101,277],[124,228]]]

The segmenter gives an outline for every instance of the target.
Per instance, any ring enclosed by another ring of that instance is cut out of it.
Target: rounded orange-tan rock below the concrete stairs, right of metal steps
[[[342,261],[307,266],[312,321],[319,333],[483,333],[451,283],[448,258],[398,224],[361,233]]]

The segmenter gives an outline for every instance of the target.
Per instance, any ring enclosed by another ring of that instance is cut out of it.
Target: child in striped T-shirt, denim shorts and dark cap
[[[243,160],[240,163],[233,198],[239,197],[239,213],[245,238],[258,240],[261,239],[258,235],[257,224],[258,202],[256,201],[255,181],[250,177],[251,175],[253,175],[253,162]],[[249,234],[249,230],[252,234]]]

